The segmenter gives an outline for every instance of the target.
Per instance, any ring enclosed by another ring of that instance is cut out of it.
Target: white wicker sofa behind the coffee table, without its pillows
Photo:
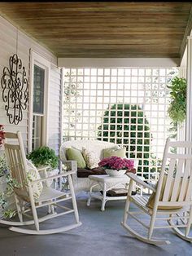
[[[82,150],[82,147],[86,148],[89,151],[94,151],[96,157],[100,160],[103,159],[103,149],[104,148],[120,148],[116,143],[109,143],[100,140],[70,140],[64,142],[60,148],[60,160],[63,161],[63,164],[66,164],[69,169],[76,170],[76,174],[73,174],[73,185],[75,192],[88,192],[89,191],[89,178],[78,178],[77,177],[77,166],[76,161],[68,161],[66,156],[67,148],[76,148]],[[137,164],[136,166],[137,167]]]

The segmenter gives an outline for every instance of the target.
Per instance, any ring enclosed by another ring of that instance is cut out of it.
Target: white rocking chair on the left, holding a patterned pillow
[[[7,139],[11,139],[11,143],[7,143]],[[17,141],[16,144],[12,143],[15,139]],[[64,174],[50,176],[48,178],[37,179],[33,181],[29,180],[28,165],[25,157],[24,144],[20,131],[18,131],[16,134],[8,132],[6,133],[5,152],[11,170],[11,178],[15,179],[18,183],[20,183],[19,188],[14,188],[15,203],[20,221],[15,222],[1,219],[0,223],[11,226],[25,226],[34,224],[35,229],[27,229],[25,227],[9,227],[11,231],[33,235],[46,235],[58,232],[66,232],[74,227],[81,226],[76,206],[76,197],[72,184],[72,171],[68,171]],[[46,186],[46,181],[51,179],[57,179],[63,176],[68,177],[68,183],[71,193],[61,192],[59,190]],[[41,191],[41,195],[38,199],[35,200],[33,196],[33,185],[37,183],[41,183],[43,188]],[[59,204],[60,202],[67,201],[69,199],[72,200],[73,209]],[[45,216],[38,218],[37,209],[45,206],[48,207],[49,214],[47,214],[46,212]],[[55,206],[61,208],[63,211],[57,213],[55,211]],[[40,229],[39,227],[39,223],[44,222],[45,220],[59,217],[63,214],[71,213],[75,215],[74,223],[72,224],[70,223],[65,227],[57,227],[52,229]],[[24,221],[24,216],[30,217],[32,219]]]

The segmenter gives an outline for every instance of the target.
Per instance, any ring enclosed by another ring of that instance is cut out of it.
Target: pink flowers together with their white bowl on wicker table
[[[99,161],[98,166],[103,167],[110,176],[122,176],[127,171],[136,172],[134,161],[121,157],[107,157]]]

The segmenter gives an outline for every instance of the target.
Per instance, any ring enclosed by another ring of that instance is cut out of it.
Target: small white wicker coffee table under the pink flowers
[[[113,200],[125,200],[127,196],[107,196],[107,191],[112,188],[127,188],[129,185],[129,177],[123,175],[120,177],[111,177],[109,175],[89,175],[89,199],[87,205],[90,205],[91,198],[97,198],[102,201],[101,210],[105,210],[105,204],[107,201]],[[103,191],[103,195],[100,192],[93,192],[93,188],[98,186]]]

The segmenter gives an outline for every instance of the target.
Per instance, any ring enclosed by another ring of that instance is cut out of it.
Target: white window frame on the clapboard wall
[[[33,75],[34,65],[45,70],[45,84],[44,84],[44,110],[42,121],[42,146],[48,144],[48,103],[49,103],[49,88],[50,88],[50,62],[36,51],[30,49],[30,87],[29,87],[29,107],[28,107],[28,152],[32,151],[33,139]]]

